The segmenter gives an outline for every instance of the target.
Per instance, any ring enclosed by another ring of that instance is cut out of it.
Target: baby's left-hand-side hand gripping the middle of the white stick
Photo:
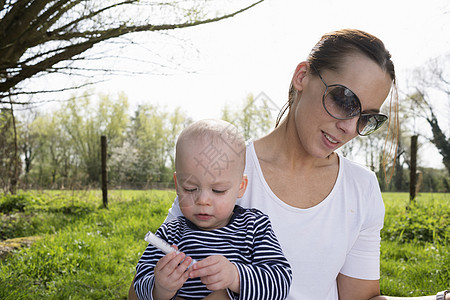
[[[172,246],[177,249],[176,246]],[[183,261],[184,259],[184,261]],[[171,252],[161,258],[155,266],[154,299],[169,299],[183,286],[189,278],[186,269],[192,258],[186,257],[182,252]]]

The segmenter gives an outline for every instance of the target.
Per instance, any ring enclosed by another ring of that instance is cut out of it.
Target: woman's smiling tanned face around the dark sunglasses
[[[326,112],[322,104],[326,87],[318,76],[311,75],[309,67],[301,83],[294,84],[301,92],[293,106],[295,126],[307,153],[327,157],[358,135],[358,117],[338,120]],[[392,83],[388,73],[362,54],[348,56],[339,71],[322,70],[321,75],[327,85],[341,84],[352,90],[361,101],[363,113],[379,112]]]

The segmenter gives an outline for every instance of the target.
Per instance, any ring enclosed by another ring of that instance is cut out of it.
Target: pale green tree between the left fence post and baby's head
[[[134,112],[127,139],[115,148],[109,163],[115,186],[167,186],[172,182],[174,147],[178,134],[192,120],[176,108],[173,112],[156,105],[141,105]]]

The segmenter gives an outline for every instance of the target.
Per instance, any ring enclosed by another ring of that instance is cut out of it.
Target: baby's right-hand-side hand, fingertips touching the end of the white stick
[[[200,277],[203,284],[211,291],[230,289],[239,293],[239,272],[225,256],[213,255],[195,263],[189,277]]]

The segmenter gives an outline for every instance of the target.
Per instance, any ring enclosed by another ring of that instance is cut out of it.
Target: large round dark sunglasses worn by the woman
[[[380,128],[388,119],[383,114],[366,114],[361,112],[361,101],[358,96],[342,84],[326,84],[319,71],[314,67],[320,80],[325,84],[322,104],[325,111],[335,119],[348,120],[358,117],[356,131],[359,135],[367,136]]]

